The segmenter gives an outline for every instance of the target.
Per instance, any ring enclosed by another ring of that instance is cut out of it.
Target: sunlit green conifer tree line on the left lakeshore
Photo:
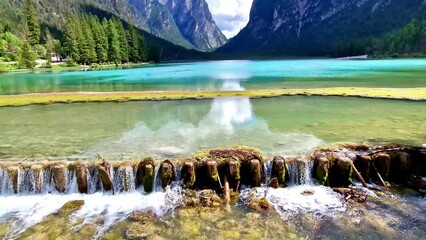
[[[69,66],[159,61],[156,46],[147,46],[139,29],[115,17],[69,14],[59,35],[55,39],[48,29],[41,31],[32,0],[25,0],[22,30],[0,26],[0,58],[17,61],[20,68],[34,68],[38,58],[50,67],[54,53],[67,58]]]

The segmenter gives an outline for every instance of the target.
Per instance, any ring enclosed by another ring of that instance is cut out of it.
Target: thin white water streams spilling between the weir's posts
[[[180,179],[182,169],[173,164],[173,172],[176,176],[175,183],[182,185]],[[311,185],[313,163],[307,158],[299,157],[295,161],[286,164],[289,175],[288,185]],[[160,176],[161,163],[157,163],[154,170],[153,189],[155,192],[163,191]],[[263,164],[265,181],[269,184],[271,180],[272,161]],[[110,178],[114,194],[136,191],[136,166],[124,163],[121,166],[110,166]],[[87,193],[106,192],[96,167],[87,167]],[[171,184],[170,182],[169,184]],[[43,166],[41,163],[33,166],[10,165],[0,167],[0,195],[11,194],[47,194],[79,193],[79,180],[74,168],[68,169],[66,165]],[[174,184],[174,185],[176,185]],[[143,190],[143,187],[142,187]]]

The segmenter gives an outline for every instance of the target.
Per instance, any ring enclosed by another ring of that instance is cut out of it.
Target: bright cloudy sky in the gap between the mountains
[[[207,0],[207,3],[220,30],[231,38],[247,25],[253,0]]]

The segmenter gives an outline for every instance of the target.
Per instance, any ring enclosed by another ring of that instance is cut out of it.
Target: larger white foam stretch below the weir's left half
[[[174,188],[149,195],[132,192],[118,195],[95,193],[5,196],[0,197],[0,222],[12,222],[13,230],[8,233],[8,237],[14,238],[40,223],[46,216],[58,212],[65,203],[75,200],[84,200],[84,205],[70,216],[70,220],[75,222],[77,219],[84,219],[76,227],[78,229],[102,218],[103,225],[98,228],[95,236],[97,238],[135,210],[151,210],[159,216],[172,211],[179,205],[181,195],[180,188]]]

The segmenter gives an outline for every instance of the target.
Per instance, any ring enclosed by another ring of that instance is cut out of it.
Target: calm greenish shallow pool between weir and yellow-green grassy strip
[[[426,143],[424,102],[218,98],[0,109],[0,158],[188,156],[248,145],[296,154],[334,142]]]

